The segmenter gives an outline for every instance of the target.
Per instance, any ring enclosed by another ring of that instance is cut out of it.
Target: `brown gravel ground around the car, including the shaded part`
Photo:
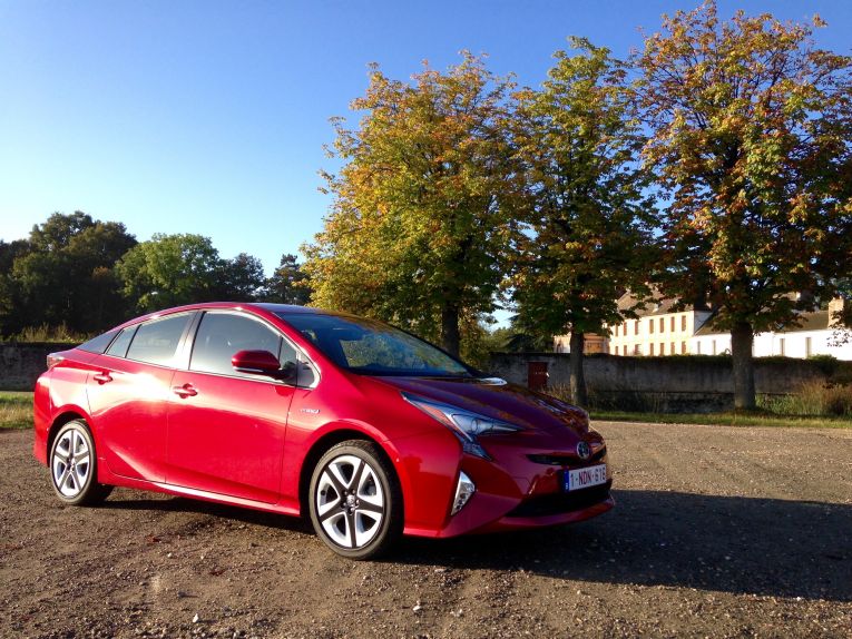
[[[616,509],[380,562],[295,519],[60,505],[0,432],[0,637],[852,637],[852,431],[597,424]]]

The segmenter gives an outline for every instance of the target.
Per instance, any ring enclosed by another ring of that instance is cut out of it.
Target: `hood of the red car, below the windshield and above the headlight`
[[[586,411],[517,384],[481,377],[373,377],[400,391],[541,431],[588,431]]]

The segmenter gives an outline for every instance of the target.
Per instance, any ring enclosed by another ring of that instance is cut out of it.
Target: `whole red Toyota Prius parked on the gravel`
[[[603,438],[554,397],[380,322],[278,304],[146,315],[48,357],[36,458],[69,504],[112,486],[310,517],[365,559],[613,508]]]

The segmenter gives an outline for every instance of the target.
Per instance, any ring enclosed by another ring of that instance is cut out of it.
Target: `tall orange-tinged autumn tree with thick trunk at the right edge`
[[[815,48],[812,27],[721,22],[705,2],[664,17],[636,65],[645,159],[670,203],[663,291],[718,309],[735,405],[753,407],[754,334],[794,323],[852,266],[850,58]]]

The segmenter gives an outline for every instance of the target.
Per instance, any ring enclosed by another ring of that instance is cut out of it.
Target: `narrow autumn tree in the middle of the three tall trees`
[[[621,321],[625,289],[646,291],[654,209],[625,67],[586,39],[571,45],[541,90],[519,95],[529,230],[517,236],[511,284],[519,325],[547,337],[570,332],[571,396],[586,405],[585,334]]]

